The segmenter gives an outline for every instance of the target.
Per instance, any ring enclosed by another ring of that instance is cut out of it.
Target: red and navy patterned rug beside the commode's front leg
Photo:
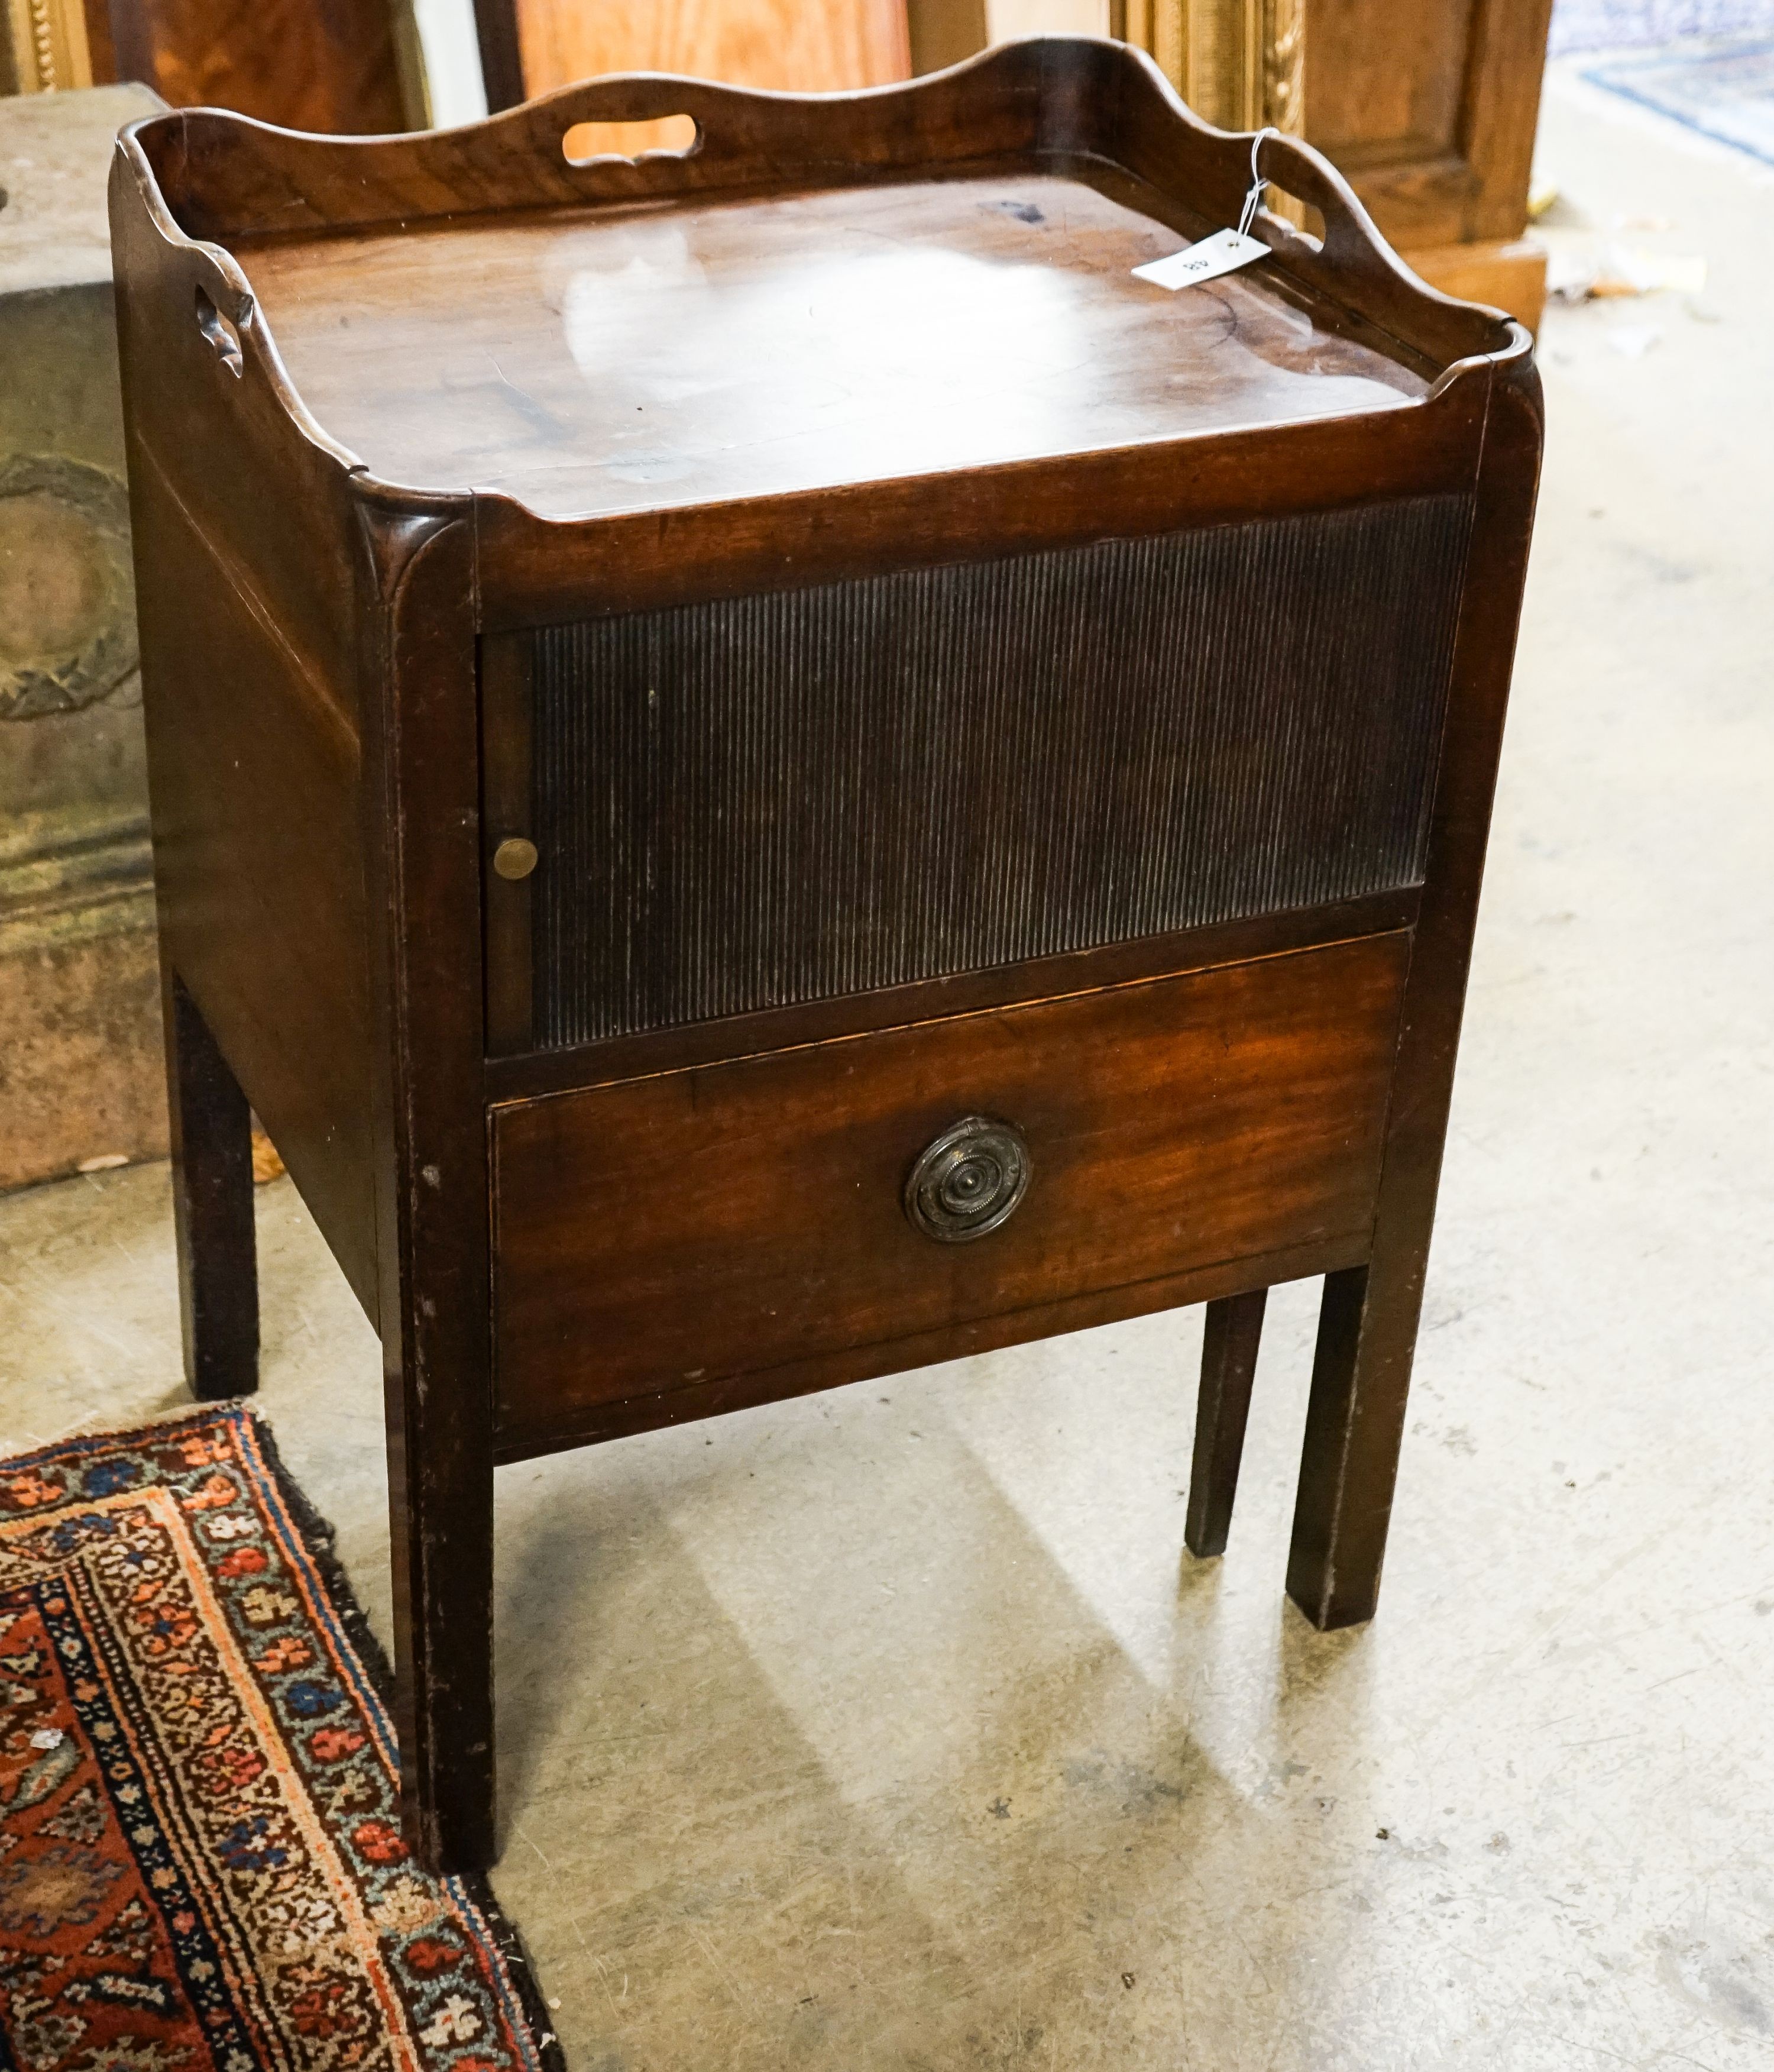
[[[383,1691],[251,1411],[0,1463],[0,2068],[560,2072]]]

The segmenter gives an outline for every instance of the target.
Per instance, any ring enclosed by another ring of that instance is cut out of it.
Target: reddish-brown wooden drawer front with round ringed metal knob
[[[495,1106],[502,1450],[723,1376],[949,1357],[980,1318],[1038,1336],[1076,1297],[1214,1262],[1347,1264],[1407,953],[1366,937]],[[1013,1125],[1026,1191],[937,1239],[908,1179],[968,1117]]]

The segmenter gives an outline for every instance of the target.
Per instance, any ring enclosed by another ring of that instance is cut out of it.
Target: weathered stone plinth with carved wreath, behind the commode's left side
[[[158,106],[0,99],[0,1187],[166,1150],[106,228]]]

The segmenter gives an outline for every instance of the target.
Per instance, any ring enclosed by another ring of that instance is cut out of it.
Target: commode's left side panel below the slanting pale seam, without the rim
[[[151,466],[135,512],[162,953],[373,1318],[356,742]]]

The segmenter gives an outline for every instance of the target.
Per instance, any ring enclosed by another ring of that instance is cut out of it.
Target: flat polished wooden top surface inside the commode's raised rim
[[[1399,408],[1268,261],[995,176],[247,247],[303,402],[383,481],[595,516]]]

